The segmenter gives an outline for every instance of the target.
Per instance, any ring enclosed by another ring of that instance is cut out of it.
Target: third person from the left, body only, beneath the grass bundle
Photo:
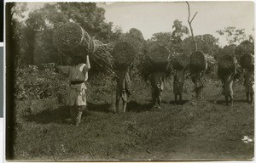
[[[155,71],[149,75],[149,81],[151,82],[151,95],[154,103],[154,108],[160,109],[161,96],[164,90],[164,76],[165,72]]]

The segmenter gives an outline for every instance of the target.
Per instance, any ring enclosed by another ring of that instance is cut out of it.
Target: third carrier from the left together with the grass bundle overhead
[[[150,82],[154,109],[160,110],[164,80],[172,75],[171,52],[159,43],[145,46],[145,57],[138,70],[145,82]]]

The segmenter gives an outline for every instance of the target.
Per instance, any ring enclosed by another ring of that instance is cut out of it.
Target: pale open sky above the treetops
[[[40,8],[44,3],[27,3],[29,10]],[[245,29],[247,35],[254,36],[254,3],[251,1],[234,2],[189,2],[194,35],[212,34],[219,39],[220,45],[227,44],[224,37],[216,32],[228,26]],[[106,10],[106,21],[113,22],[113,28],[121,27],[124,32],[131,28],[142,31],[145,39],[157,32],[172,31],[174,20],[181,20],[189,27],[186,3],[97,3]]]

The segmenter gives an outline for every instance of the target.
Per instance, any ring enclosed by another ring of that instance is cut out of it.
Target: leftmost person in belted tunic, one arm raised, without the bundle
[[[86,55],[86,64],[82,63],[79,56],[73,57],[73,66],[55,65],[55,69],[68,76],[69,88],[67,93],[67,105],[70,107],[71,121],[75,126],[81,123],[83,110],[86,108],[85,83],[88,80],[90,70],[89,55]]]

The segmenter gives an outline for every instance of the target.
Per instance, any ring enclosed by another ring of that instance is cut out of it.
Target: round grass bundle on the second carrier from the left
[[[129,42],[118,42],[113,47],[112,55],[114,59],[113,68],[115,70],[124,70],[133,62],[136,50]]]

